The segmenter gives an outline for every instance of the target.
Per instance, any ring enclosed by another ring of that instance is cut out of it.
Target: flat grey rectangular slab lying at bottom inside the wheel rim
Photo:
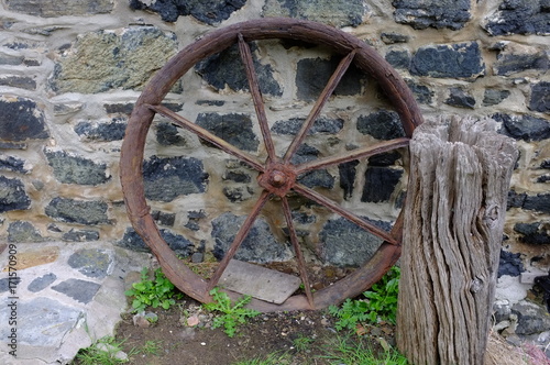
[[[272,270],[262,266],[231,259],[220,278],[226,289],[273,302],[283,303],[295,292],[301,279],[294,275]]]

